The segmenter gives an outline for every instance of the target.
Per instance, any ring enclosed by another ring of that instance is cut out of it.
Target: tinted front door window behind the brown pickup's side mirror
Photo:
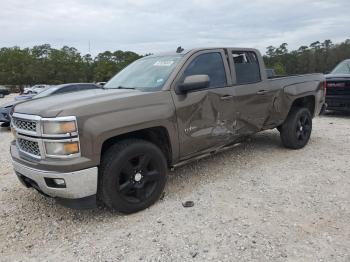
[[[191,75],[208,75],[209,87],[227,86],[225,66],[220,53],[207,53],[197,56],[186,68],[182,80]]]

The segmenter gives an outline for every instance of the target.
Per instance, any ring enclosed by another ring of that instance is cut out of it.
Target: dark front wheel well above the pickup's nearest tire
[[[115,143],[128,138],[138,138],[149,141],[160,148],[167,159],[168,165],[171,165],[172,154],[169,134],[164,127],[152,127],[133,131],[127,134],[111,137],[103,142],[101,156]]]

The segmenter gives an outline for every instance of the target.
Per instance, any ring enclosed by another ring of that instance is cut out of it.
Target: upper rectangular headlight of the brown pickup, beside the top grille
[[[75,118],[70,118],[69,120],[66,118],[63,118],[64,120],[59,120],[58,118],[56,119],[42,121],[44,135],[64,135],[78,131]]]

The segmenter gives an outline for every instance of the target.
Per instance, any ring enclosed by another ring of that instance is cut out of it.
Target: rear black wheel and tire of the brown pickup
[[[281,128],[282,144],[291,149],[303,148],[310,139],[312,117],[307,108],[292,108]]]

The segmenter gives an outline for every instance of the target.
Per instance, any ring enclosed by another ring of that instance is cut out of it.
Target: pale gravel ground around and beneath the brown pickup
[[[25,189],[11,139],[1,129],[2,261],[350,261],[350,116],[316,118],[302,150],[267,131],[177,169],[161,201],[128,216]]]

